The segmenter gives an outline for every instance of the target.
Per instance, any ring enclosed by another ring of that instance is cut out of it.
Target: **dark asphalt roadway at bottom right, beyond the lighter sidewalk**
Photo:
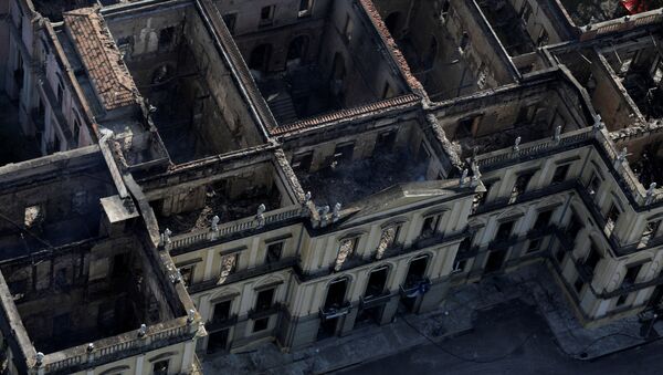
[[[537,309],[517,300],[480,313],[475,329],[466,335],[420,345],[337,374],[654,375],[663,368],[661,353],[663,341],[655,341],[593,361],[570,357]]]

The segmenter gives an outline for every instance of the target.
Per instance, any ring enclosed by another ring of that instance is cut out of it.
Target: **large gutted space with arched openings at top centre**
[[[232,1],[217,6],[278,124],[406,93],[386,49],[376,48],[370,20],[350,0],[312,2],[316,8],[298,15],[298,24],[265,7],[257,32],[235,25]],[[260,30],[280,23],[287,25]]]

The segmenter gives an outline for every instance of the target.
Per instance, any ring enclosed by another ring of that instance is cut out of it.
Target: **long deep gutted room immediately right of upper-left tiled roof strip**
[[[229,67],[191,6],[131,24],[107,18],[124,61],[146,98],[151,121],[173,163],[224,154],[262,142]],[[158,29],[151,29],[158,24]],[[147,34],[147,40],[145,33]]]

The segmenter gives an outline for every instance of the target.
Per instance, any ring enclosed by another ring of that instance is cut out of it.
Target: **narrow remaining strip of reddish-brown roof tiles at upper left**
[[[104,108],[135,104],[138,90],[98,8],[76,9],[63,19]]]

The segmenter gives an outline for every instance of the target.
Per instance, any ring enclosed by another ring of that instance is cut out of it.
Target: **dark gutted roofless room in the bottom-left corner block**
[[[90,241],[3,262],[36,350],[48,354],[158,323],[167,310],[139,247],[131,239]]]

